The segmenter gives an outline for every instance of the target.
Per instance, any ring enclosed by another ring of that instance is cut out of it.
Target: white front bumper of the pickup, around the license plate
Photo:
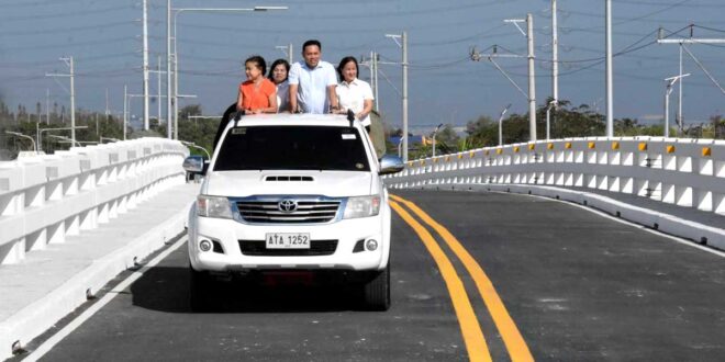
[[[386,231],[387,230],[387,231]],[[189,260],[197,271],[236,272],[249,270],[382,270],[390,253],[390,208],[384,205],[372,217],[343,219],[331,224],[248,225],[233,219],[189,217]],[[337,240],[331,254],[324,256],[249,256],[239,240],[265,240],[267,233],[309,233],[315,240]],[[199,242],[217,244],[215,250],[201,251]],[[373,251],[355,250],[360,240],[378,241]],[[220,250],[221,249],[221,250]]]

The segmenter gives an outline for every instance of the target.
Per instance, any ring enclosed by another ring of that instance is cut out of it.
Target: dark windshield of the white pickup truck
[[[252,126],[230,129],[214,171],[369,171],[359,133],[353,127]]]

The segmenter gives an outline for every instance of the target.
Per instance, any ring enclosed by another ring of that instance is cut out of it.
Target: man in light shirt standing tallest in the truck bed
[[[302,45],[304,60],[293,64],[290,69],[290,110],[293,113],[330,113],[339,109],[335,95],[335,68],[320,60],[321,56],[320,42],[306,41]]]

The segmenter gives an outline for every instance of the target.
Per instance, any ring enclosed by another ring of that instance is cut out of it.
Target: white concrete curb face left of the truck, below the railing
[[[181,235],[187,216],[186,208],[177,212],[122,248],[93,260],[60,286],[0,323],[0,358],[11,358],[12,343],[30,342],[83,304],[87,290],[96,294],[119,273],[134,267],[134,257],[143,260],[163,248],[166,241]]]

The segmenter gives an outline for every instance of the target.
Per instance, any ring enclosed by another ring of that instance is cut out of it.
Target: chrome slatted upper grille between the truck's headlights
[[[278,201],[238,201],[242,219],[260,224],[321,224],[332,222],[339,208],[338,200],[301,200],[297,210],[282,212]]]

